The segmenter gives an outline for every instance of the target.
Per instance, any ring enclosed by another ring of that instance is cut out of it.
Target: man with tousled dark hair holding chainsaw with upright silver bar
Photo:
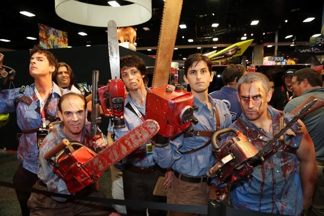
[[[128,95],[125,100],[124,118],[125,128],[114,128],[111,126],[108,129],[109,134],[115,134],[115,139],[118,139],[129,130],[141,124],[144,120],[146,110],[146,96],[148,88],[145,88],[143,77],[146,75],[145,62],[137,56],[125,56],[120,60],[121,78],[128,89]],[[127,108],[127,104],[140,113],[137,115]],[[123,184],[124,196],[128,200],[143,200],[165,202],[165,197],[154,196],[153,190],[159,176],[168,176],[171,173],[165,173],[165,170],[159,167],[153,159],[153,151],[151,143],[145,143],[134,152],[123,159]],[[168,178],[167,178],[168,179]],[[169,186],[169,181],[165,182],[164,186]],[[127,215],[142,215],[146,216],[146,209],[126,207]],[[166,212],[161,210],[149,209],[150,215],[165,215]]]

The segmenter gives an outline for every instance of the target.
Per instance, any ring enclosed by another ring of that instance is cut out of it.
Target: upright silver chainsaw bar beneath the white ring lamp
[[[112,73],[112,79],[119,79],[119,46],[117,37],[117,25],[114,20],[109,20],[108,28],[108,50],[109,50],[109,64]]]

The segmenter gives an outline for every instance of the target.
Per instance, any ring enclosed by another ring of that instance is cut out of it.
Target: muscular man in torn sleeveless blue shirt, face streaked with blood
[[[268,143],[264,137],[272,139],[280,130],[280,118],[286,123],[292,116],[268,106],[272,92],[269,80],[261,73],[241,77],[237,90],[243,113],[231,127],[241,130],[260,151]],[[251,136],[255,132],[261,136]],[[226,133],[220,145],[234,135]],[[296,122],[276,147],[278,151],[265,157],[247,179],[231,186],[230,196],[235,208],[300,215],[303,208],[310,206],[317,168],[314,146],[305,125],[300,120]]]

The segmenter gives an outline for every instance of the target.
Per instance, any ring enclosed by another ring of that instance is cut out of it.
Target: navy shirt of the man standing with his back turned
[[[230,111],[232,122],[237,120],[241,114],[242,109],[237,98],[237,89],[224,86],[219,91],[214,91],[209,94],[212,98],[222,100]]]

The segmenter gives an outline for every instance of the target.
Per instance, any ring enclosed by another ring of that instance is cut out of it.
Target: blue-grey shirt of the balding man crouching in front
[[[90,124],[90,122],[86,122],[86,125],[81,135],[81,143],[83,143],[84,139],[88,137],[87,131],[90,131]],[[57,136],[53,132],[49,133],[45,137],[42,146],[40,147],[40,156],[38,158],[38,162],[41,165],[41,167],[38,173],[38,177],[41,179],[41,181],[43,181],[43,183],[47,185],[48,191],[60,194],[70,194],[67,190],[65,182],[60,177],[58,177],[57,174],[53,173],[53,166],[47,160],[44,159],[44,155],[51,149],[53,149],[57,145],[57,143],[62,141],[64,138],[67,138],[69,141],[76,140],[71,139],[70,137],[68,137],[68,135],[66,135],[63,132],[63,123],[59,125],[54,125],[53,127],[56,128]],[[87,140],[90,139],[88,138]],[[89,143],[87,143],[87,146],[89,146]],[[54,157],[52,157],[51,159],[54,160]],[[65,198],[60,197],[53,197],[53,199],[62,202],[66,200]]]

